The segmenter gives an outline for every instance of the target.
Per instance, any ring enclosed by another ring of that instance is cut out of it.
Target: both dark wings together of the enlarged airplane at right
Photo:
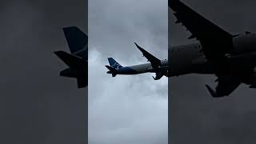
[[[242,83],[241,75],[234,74],[230,62],[226,58],[226,54],[230,54],[234,48],[234,36],[179,0],[169,0],[168,5],[174,11],[174,16],[177,18],[176,23],[182,23],[182,26],[190,31],[189,39],[196,38],[201,43],[201,51],[218,77],[218,85],[215,90],[206,85],[210,94],[213,97],[229,95]],[[234,75],[230,76],[232,74]]]

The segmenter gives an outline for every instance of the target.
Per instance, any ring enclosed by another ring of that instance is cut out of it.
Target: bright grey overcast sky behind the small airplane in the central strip
[[[89,143],[167,143],[168,83],[154,74],[106,74],[107,58],[122,66],[146,62],[134,42],[167,58],[167,0],[89,2]]]

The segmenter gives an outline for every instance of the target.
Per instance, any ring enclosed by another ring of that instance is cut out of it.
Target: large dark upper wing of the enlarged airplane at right
[[[192,33],[190,38],[200,41],[202,52],[216,70],[215,74],[228,70],[226,54],[233,49],[233,35],[203,18],[179,0],[169,0],[168,6],[174,10],[176,23],[182,23]]]

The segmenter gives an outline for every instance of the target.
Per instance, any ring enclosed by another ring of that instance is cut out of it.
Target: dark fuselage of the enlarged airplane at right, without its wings
[[[234,70],[245,65],[256,65],[256,34],[241,34],[233,38],[234,50],[227,54],[230,65]],[[178,76],[182,74],[214,74],[214,70],[207,62],[199,43],[173,46],[169,53],[169,74]],[[242,70],[238,70],[242,72]],[[252,75],[256,75],[252,71]],[[256,78],[253,78],[256,79]],[[256,83],[256,80],[254,80]]]

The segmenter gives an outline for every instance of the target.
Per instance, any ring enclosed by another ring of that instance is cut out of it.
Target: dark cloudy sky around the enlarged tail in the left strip
[[[86,2],[1,2],[0,143],[85,143],[86,91],[58,77],[62,26],[86,30]]]

